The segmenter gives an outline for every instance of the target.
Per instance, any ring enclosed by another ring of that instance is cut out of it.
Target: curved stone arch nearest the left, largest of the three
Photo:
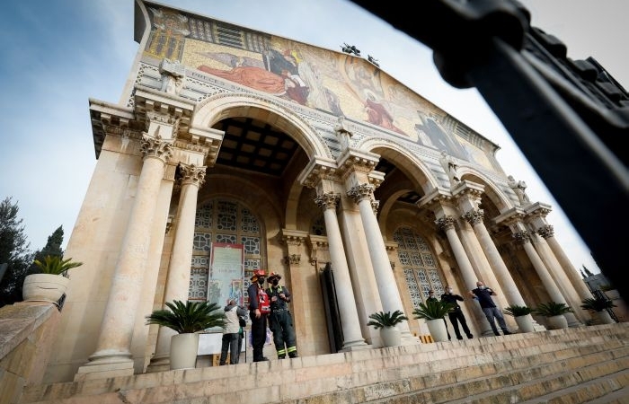
[[[270,98],[244,92],[219,93],[199,102],[190,127],[212,127],[218,121],[246,117],[263,120],[293,137],[312,160],[314,157],[332,158],[332,152],[314,127],[297,114]]]

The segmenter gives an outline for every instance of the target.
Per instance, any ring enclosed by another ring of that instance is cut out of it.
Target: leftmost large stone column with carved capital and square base
[[[141,143],[144,163],[121,250],[110,295],[102,318],[96,351],[79,373],[111,372],[133,374],[130,346],[146,268],[155,200],[164,177],[164,166],[172,155],[172,142],[160,136],[144,135]]]

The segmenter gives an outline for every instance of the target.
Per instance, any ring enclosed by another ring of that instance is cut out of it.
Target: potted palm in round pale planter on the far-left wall
[[[76,262],[71,258],[63,259],[58,255],[47,255],[42,260],[35,259],[33,263],[40,272],[24,278],[22,287],[24,302],[56,304],[61,296],[66,294],[67,284],[70,283],[67,271],[83,265],[83,262]]]

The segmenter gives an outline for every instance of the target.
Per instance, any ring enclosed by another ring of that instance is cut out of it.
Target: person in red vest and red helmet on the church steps
[[[264,269],[256,269],[251,277],[252,284],[249,285],[249,318],[252,321],[252,346],[253,362],[268,361],[264,357],[262,350],[267,339],[267,313],[264,313],[263,304],[268,303],[269,296],[264,291]]]

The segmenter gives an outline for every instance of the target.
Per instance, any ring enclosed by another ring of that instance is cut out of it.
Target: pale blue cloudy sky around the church
[[[527,182],[531,201],[553,206],[554,236],[575,268],[600,272],[588,247],[509,134],[475,89],[447,84],[432,51],[347,0],[164,0],[193,13],[258,31],[375,57],[382,70],[501,146],[507,175]],[[531,24],[595,57],[629,88],[626,0],[520,0]],[[28,0],[0,5],[0,198],[13,198],[31,250],[59,226],[70,238],[96,158],[90,98],[119,102],[138,45],[134,0]],[[417,13],[418,22],[422,16]]]

